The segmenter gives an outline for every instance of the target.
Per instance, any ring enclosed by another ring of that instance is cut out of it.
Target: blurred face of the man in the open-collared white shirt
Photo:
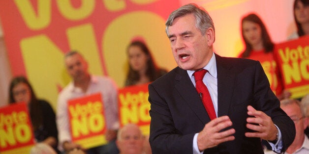
[[[80,54],[73,54],[65,58],[68,74],[74,81],[80,81],[88,75],[88,64]]]

